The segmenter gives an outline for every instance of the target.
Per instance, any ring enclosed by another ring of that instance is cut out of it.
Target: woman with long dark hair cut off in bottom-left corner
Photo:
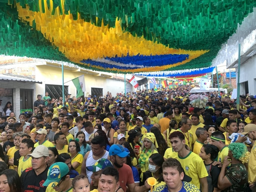
[[[0,173],[0,191],[23,192],[22,183],[14,169],[5,169]]]

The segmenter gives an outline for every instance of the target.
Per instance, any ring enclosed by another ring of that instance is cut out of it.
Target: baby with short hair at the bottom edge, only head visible
[[[72,181],[73,192],[90,192],[89,180],[85,175],[77,175]]]

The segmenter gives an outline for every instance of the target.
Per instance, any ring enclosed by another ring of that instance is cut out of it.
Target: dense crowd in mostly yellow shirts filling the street
[[[45,93],[17,117],[6,104],[0,191],[256,191],[256,95],[238,106],[232,93],[197,93],[208,97],[199,108],[189,91]]]

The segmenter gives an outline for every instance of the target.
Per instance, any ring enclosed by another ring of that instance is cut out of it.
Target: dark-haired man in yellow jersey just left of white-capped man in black
[[[32,149],[34,147],[34,142],[31,139],[23,139],[19,146],[19,166],[18,166],[18,174],[19,176],[22,172],[29,167],[32,167],[31,159],[32,157],[28,157],[28,154],[32,153]]]

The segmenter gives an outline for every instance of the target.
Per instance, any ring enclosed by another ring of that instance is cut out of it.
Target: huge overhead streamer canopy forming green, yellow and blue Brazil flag
[[[0,0],[0,54],[115,73],[208,68],[255,0]]]

